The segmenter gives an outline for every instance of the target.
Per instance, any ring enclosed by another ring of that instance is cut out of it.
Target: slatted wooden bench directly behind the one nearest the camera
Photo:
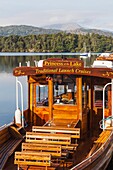
[[[22,143],[22,151],[35,151],[51,154],[51,156],[61,157],[61,145],[49,145],[38,143]]]

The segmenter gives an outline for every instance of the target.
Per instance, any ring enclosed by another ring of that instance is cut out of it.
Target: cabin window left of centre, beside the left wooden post
[[[36,104],[37,106],[48,106],[47,85],[36,85]]]

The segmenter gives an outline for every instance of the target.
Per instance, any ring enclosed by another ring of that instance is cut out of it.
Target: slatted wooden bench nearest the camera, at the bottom
[[[14,164],[18,165],[18,169],[26,165],[28,167],[37,166],[37,168],[45,167],[47,170],[48,167],[53,166],[50,154],[36,152],[15,152]]]

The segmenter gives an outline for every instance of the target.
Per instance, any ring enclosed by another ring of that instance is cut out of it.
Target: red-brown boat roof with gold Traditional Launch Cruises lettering
[[[105,63],[105,62],[104,62]],[[99,62],[100,64],[100,62]],[[112,63],[107,63],[109,67],[99,65],[98,67],[85,67],[83,60],[78,58],[48,58],[38,62],[37,66],[21,66],[13,70],[14,76],[32,75],[54,75],[54,74],[73,74],[81,76],[95,76],[102,78],[113,78]],[[102,64],[102,62],[101,62]]]

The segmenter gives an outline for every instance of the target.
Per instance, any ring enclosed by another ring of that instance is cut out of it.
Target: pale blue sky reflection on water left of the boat
[[[26,77],[20,78],[24,89],[24,109],[27,108],[27,84],[25,84],[25,79]],[[15,98],[15,77],[12,73],[0,73],[0,126],[12,122],[16,109]],[[20,103],[19,100],[19,105]]]

